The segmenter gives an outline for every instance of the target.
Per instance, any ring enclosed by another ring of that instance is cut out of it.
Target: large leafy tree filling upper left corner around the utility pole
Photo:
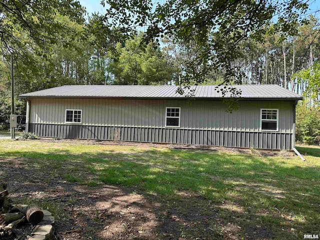
[[[60,42],[63,46],[69,45],[69,41],[61,41],[61,34],[70,32],[59,16],[68,15],[73,22],[83,23],[83,13],[82,6],[76,0],[0,1],[0,65],[1,68],[3,65],[8,68],[9,58],[14,55],[16,95],[32,89],[32,83],[47,85],[41,73],[47,69],[48,58],[52,57],[52,44]],[[8,79],[9,74],[0,79],[3,86],[0,89],[1,113],[5,112],[10,102]],[[23,102],[16,99],[16,108],[16,112],[23,109]]]

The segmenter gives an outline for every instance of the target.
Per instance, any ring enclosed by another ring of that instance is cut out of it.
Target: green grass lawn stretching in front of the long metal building
[[[251,239],[252,232],[263,239],[303,239],[319,231],[320,148],[297,149],[305,162],[162,146],[0,140],[0,158],[21,158],[67,181],[133,187],[172,204],[209,202],[201,208],[203,217],[212,209],[218,214],[208,220],[209,229],[221,232],[221,225],[231,223],[238,227],[236,239]],[[183,234],[191,239],[188,231]]]

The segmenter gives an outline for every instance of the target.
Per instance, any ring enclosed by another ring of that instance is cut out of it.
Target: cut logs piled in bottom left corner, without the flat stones
[[[0,238],[10,235],[12,228],[29,222],[36,225],[43,218],[43,212],[36,205],[10,204],[6,184],[0,181]]]

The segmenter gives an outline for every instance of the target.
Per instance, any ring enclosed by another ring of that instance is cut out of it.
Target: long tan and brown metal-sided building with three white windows
[[[38,136],[293,149],[295,105],[278,85],[235,85],[238,109],[214,85],[64,85],[21,94]],[[193,97],[186,97],[193,92]]]

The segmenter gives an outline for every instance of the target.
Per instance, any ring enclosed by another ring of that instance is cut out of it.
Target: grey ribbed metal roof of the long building
[[[243,98],[302,99],[302,96],[273,84],[228,85],[241,90]],[[64,85],[40,91],[20,94],[20,97],[95,97],[95,98],[181,98],[191,94],[196,98],[221,98],[216,85],[197,85],[184,89],[184,94],[176,92],[173,85]],[[224,97],[230,97],[227,92]]]

